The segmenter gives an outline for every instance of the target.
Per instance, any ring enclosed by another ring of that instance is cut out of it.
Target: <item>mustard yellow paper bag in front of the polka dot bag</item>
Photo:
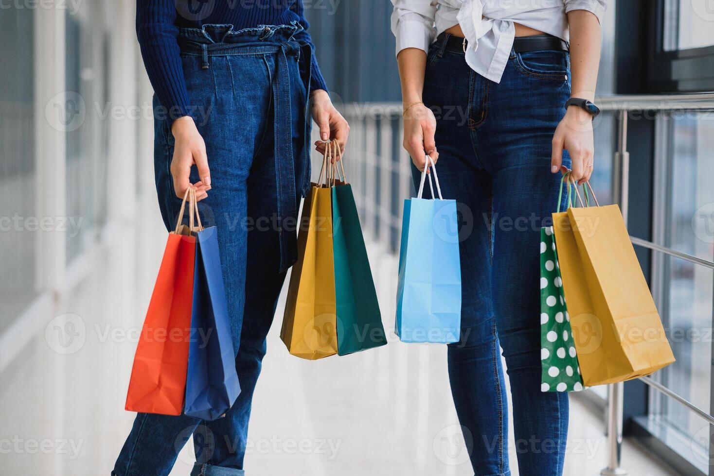
[[[645,376],[673,363],[620,208],[570,207],[553,214],[553,227],[585,386]]]

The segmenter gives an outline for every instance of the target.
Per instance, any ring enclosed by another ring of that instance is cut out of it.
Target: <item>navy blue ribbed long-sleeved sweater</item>
[[[198,4],[202,8],[198,8]],[[191,6],[191,9],[189,9]],[[298,40],[312,44],[307,33],[303,0],[136,0],[136,34],[151,86],[171,120],[191,115],[178,48],[178,29],[200,28],[205,24],[231,24],[233,31],[258,25],[282,25],[297,20],[304,30]],[[208,14],[208,15],[206,15]],[[188,17],[188,18],[187,18]],[[200,17],[201,20],[196,19]],[[327,90],[313,55],[311,88]]]

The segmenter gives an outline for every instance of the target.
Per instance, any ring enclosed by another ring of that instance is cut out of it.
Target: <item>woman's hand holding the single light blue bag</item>
[[[431,109],[421,103],[404,111],[403,117],[403,147],[409,152],[411,161],[414,162],[416,168],[423,171],[426,165],[426,155],[429,155],[435,164],[439,158],[439,152],[436,151],[436,143],[434,143],[436,118],[434,118]]]

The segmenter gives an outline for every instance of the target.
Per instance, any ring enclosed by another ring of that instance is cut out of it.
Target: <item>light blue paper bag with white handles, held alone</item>
[[[427,156],[428,157],[428,156]],[[458,252],[456,201],[443,200],[431,157],[416,198],[404,200],[396,333],[402,342],[458,342],[461,331],[461,262]],[[431,196],[421,197],[428,175]]]

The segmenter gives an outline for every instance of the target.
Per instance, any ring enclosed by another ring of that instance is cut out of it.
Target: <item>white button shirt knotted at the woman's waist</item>
[[[602,22],[605,0],[392,0],[397,53],[428,51],[436,36],[458,24],[466,36],[466,63],[496,83],[511,55],[513,23],[569,41],[569,11],[586,10]]]

